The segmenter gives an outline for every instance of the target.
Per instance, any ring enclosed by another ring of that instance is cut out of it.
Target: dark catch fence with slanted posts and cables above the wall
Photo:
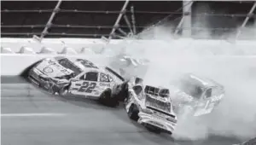
[[[161,27],[175,38],[256,39],[253,1],[13,3],[1,6],[2,38],[154,38]]]

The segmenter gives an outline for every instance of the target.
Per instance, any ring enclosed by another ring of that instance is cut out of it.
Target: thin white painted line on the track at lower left
[[[1,113],[1,117],[59,117],[65,115],[65,113]]]

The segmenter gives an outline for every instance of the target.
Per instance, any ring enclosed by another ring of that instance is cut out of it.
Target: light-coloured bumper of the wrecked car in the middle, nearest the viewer
[[[141,112],[141,113],[138,113],[138,116],[140,117],[137,121],[139,124],[152,125],[154,127],[159,128],[162,131],[166,131],[169,133],[172,133],[176,126],[176,123],[168,121],[165,118],[154,115],[154,114]]]

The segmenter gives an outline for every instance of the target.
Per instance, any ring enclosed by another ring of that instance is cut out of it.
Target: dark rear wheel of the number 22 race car
[[[117,107],[119,105],[119,99],[117,96],[112,96],[111,90],[105,90],[102,92],[99,100],[103,105],[108,107]]]

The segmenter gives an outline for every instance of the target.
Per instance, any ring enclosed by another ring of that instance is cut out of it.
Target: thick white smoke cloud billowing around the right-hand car
[[[206,18],[195,20],[195,26],[207,27]],[[215,21],[218,23],[218,21]],[[254,26],[256,30],[256,24]],[[204,29],[199,38],[212,38]],[[236,30],[223,34],[224,40],[195,41],[176,39],[168,26],[155,26],[143,32],[150,41],[118,44],[119,53],[150,60],[144,76],[150,84],[168,86],[177,74],[195,73],[212,78],[225,88],[224,100],[210,114],[194,119],[179,119],[173,136],[177,139],[201,139],[208,136],[256,136],[256,43],[234,40]],[[255,37],[255,31],[243,31]],[[254,39],[256,40],[256,38]],[[198,43],[200,42],[200,43]]]

